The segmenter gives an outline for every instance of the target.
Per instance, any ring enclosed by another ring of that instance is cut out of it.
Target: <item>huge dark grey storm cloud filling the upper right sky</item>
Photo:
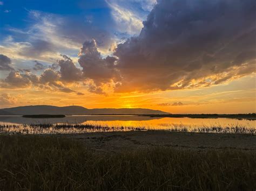
[[[95,82],[118,82],[119,92],[207,87],[248,75],[255,72],[255,5],[159,0],[140,35],[118,45],[116,63],[107,65],[95,44],[85,43],[80,66]]]

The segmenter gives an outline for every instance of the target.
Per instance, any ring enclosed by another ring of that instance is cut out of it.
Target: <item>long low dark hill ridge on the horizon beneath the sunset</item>
[[[56,107],[51,105],[29,105],[16,108],[0,109],[0,115],[153,115],[169,114],[160,110],[142,108],[122,108],[122,109],[87,109],[81,106]]]

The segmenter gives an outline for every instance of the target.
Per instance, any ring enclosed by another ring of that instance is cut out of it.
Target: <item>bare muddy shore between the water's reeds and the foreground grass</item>
[[[256,152],[256,136],[241,134],[188,133],[170,131],[95,132],[61,135],[82,141],[98,152],[137,150],[151,146],[206,151],[235,149]]]

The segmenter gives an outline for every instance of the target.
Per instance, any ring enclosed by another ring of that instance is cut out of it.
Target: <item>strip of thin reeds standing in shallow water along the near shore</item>
[[[169,130],[178,132],[198,132],[198,133],[242,133],[255,135],[256,129],[242,125],[201,125],[185,126],[182,124],[170,124],[170,128],[154,129],[146,126],[122,126],[122,125],[99,125],[99,124],[0,124],[2,133],[20,134],[66,134],[66,133],[85,133],[85,132],[109,132],[109,131],[145,131],[145,130]]]

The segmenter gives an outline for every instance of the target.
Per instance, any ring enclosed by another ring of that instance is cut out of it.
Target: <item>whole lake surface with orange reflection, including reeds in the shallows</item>
[[[256,121],[231,118],[68,116],[62,119],[0,117],[0,132],[56,134],[134,130],[254,133]]]

